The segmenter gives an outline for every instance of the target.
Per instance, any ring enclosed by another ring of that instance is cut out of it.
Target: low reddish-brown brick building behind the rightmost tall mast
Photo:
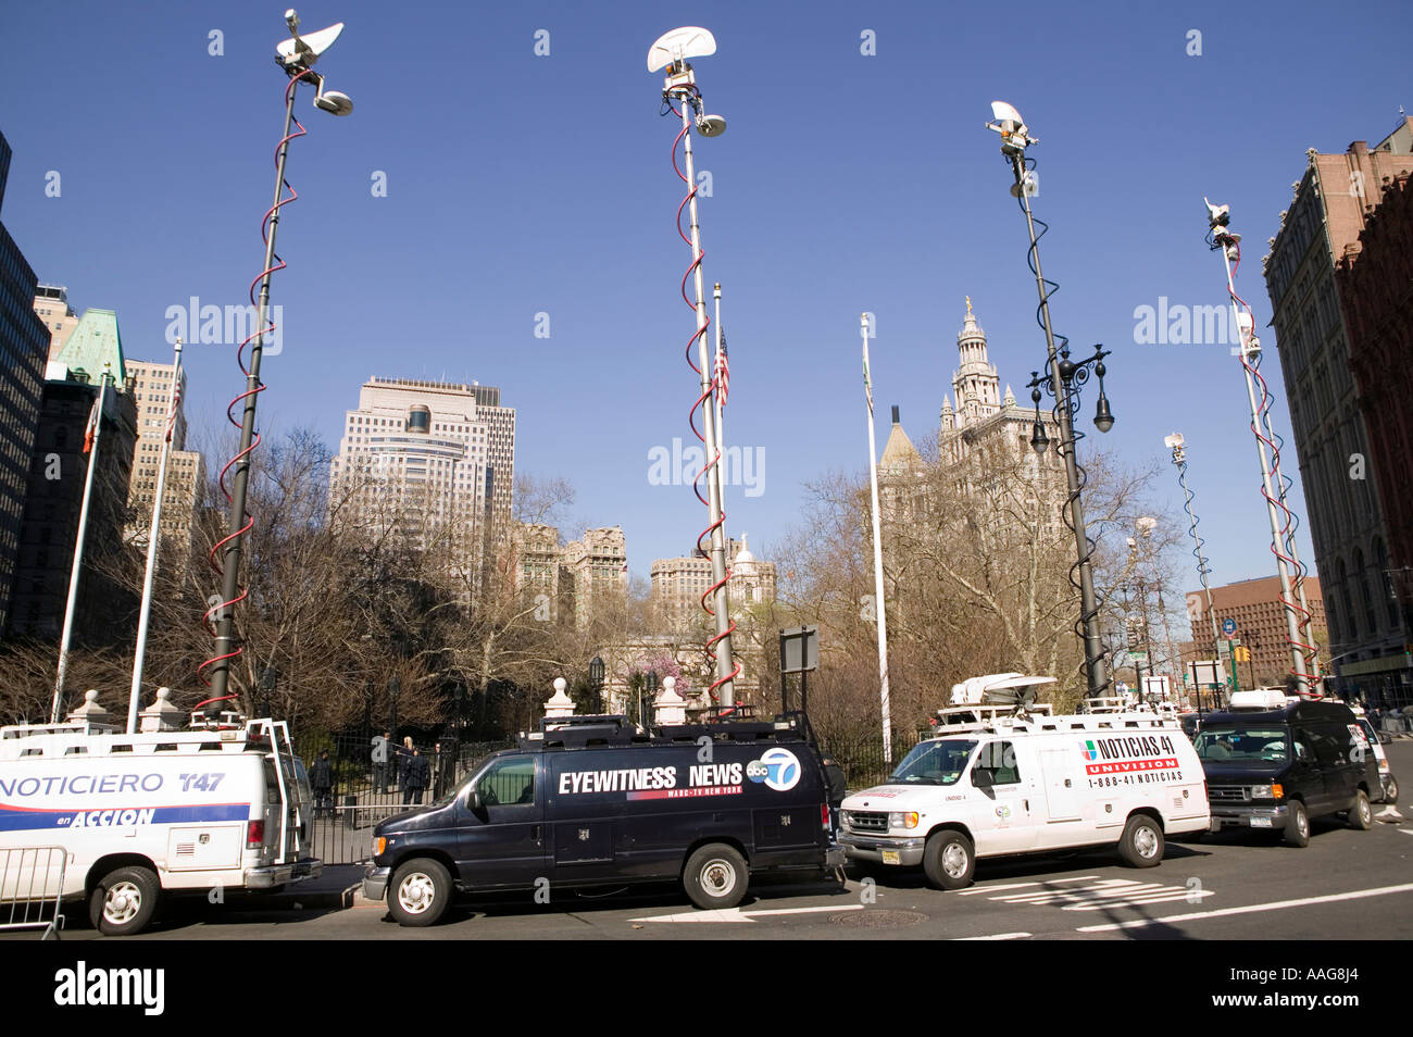
[[[1306,598],[1310,600],[1311,629],[1325,629],[1324,599],[1320,581],[1306,576]],[[1212,612],[1217,626],[1222,620],[1236,622],[1236,639],[1251,651],[1251,661],[1238,663],[1241,687],[1283,687],[1290,672],[1290,643],[1286,640],[1286,606],[1280,600],[1280,576],[1260,576],[1236,583],[1212,588]],[[1221,658],[1224,667],[1231,665],[1225,639],[1212,644],[1212,622],[1207,615],[1207,595],[1202,591],[1187,592],[1187,617],[1193,624],[1193,640],[1188,643],[1198,658]],[[1184,651],[1187,648],[1184,647]]]

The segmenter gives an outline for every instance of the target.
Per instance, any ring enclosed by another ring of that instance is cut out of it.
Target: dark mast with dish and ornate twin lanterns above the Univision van
[[[1026,148],[1034,144],[1036,138],[1030,136],[1030,127],[1026,126],[1020,113],[1006,102],[992,102],[991,112],[992,122],[986,126],[1000,134],[1000,153],[1006,157],[1016,178],[1010,194],[1016,196],[1020,211],[1026,216],[1026,230],[1030,235],[1027,263],[1036,275],[1036,291],[1040,294],[1036,319],[1046,332],[1046,366],[1048,373],[1040,377],[1031,372],[1030,381],[1030,389],[1033,390],[1030,398],[1036,404],[1036,427],[1030,445],[1036,454],[1044,454],[1050,445],[1044,425],[1040,421],[1040,389],[1043,387],[1056,401],[1056,418],[1060,421],[1058,451],[1064,458],[1065,479],[1070,490],[1067,502],[1070,509],[1068,524],[1074,530],[1075,547],[1080,555],[1070,576],[1070,582],[1077,583],[1080,589],[1080,622],[1075,633],[1080,634],[1084,643],[1084,670],[1088,697],[1091,699],[1102,698],[1109,687],[1109,675],[1104,658],[1104,641],[1099,637],[1099,606],[1094,593],[1094,568],[1089,562],[1094,554],[1094,544],[1084,528],[1084,506],[1080,499],[1084,482],[1080,465],[1074,456],[1075,444],[1082,434],[1075,432],[1074,415],[1080,407],[1078,389],[1089,380],[1089,370],[1092,367],[1099,379],[1099,404],[1094,415],[1094,425],[1101,432],[1108,432],[1113,428],[1113,414],[1109,411],[1109,400],[1104,394],[1104,357],[1108,353],[1102,346],[1095,346],[1094,356],[1080,363],[1072,363],[1070,360],[1068,339],[1054,333],[1054,328],[1050,324],[1050,294],[1058,285],[1054,281],[1047,281],[1040,271],[1040,236],[1048,227],[1030,212],[1030,196],[1036,194],[1039,179],[1034,171],[1034,160],[1026,158]],[[1036,235],[1036,223],[1041,226],[1040,235]],[[1058,349],[1056,348],[1057,338],[1060,339]],[[1078,579],[1075,579],[1075,569],[1078,569]]]

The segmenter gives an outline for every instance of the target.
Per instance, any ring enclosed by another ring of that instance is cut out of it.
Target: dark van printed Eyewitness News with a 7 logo
[[[438,802],[379,824],[363,894],[386,894],[403,925],[431,925],[471,890],[675,880],[698,907],[735,907],[755,872],[844,863],[805,730],[545,721]]]

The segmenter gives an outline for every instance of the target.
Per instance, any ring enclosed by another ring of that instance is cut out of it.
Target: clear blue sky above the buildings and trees
[[[804,480],[866,465],[861,311],[877,315],[880,449],[889,404],[914,439],[934,432],[965,295],[1002,380],[1026,398],[1044,342],[1024,223],[983,129],[1002,97],[1040,140],[1034,209],[1051,225],[1056,328],[1077,348],[1113,350],[1118,422],[1104,445],[1133,465],[1166,462],[1163,437],[1181,431],[1214,581],[1269,575],[1238,360],[1225,345],[1137,345],[1133,312],[1160,297],[1225,301],[1221,260],[1202,243],[1208,194],[1246,237],[1238,287],[1265,325],[1265,239],[1306,148],[1378,141],[1413,105],[1400,6],[1330,10],[301,6],[305,31],[348,23],[319,71],[356,110],[335,120],[301,93],[309,133],[291,146],[300,201],[280,229],[284,342],[266,362],[261,425],[312,425],[336,445],[370,374],[496,384],[519,410],[520,470],[572,480],[581,523],[622,524],[636,574],[684,552],[704,509],[687,486],[649,482],[649,452],[691,435],[682,350],[695,325],[678,295],[690,261],[673,226],[678,124],[657,117],[661,78],[644,57],[661,32],[699,24],[718,54],[695,62],[698,82],[729,123],[695,141],[712,174],[704,268],[723,285],[732,346],[728,441],[764,462],[759,496],[728,489],[733,535],[749,531],[769,554]],[[81,312],[117,311],[129,356],[167,360],[168,307],[244,302],[260,270],[281,14],[249,1],[58,1],[4,18],[0,130],[14,161],[0,215],[41,281],[68,285]],[[547,57],[534,54],[537,30]],[[866,30],[873,55],[861,54]],[[386,196],[373,195],[377,172]],[[547,339],[534,335],[541,312]],[[243,387],[233,349],[192,346],[187,362],[192,425],[215,427]],[[1273,349],[1265,372],[1289,438]],[[1293,444],[1286,461],[1297,475]],[[1307,535],[1300,550],[1311,559]]]

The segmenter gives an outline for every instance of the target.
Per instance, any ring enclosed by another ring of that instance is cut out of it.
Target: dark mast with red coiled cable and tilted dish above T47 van
[[[250,302],[257,307],[259,324],[236,350],[236,363],[240,365],[240,370],[246,376],[246,391],[232,400],[226,408],[226,418],[232,425],[240,428],[240,451],[220,469],[220,489],[230,503],[230,517],[226,535],[211,548],[211,565],[220,574],[220,596],[205,613],[205,620],[216,639],[216,653],[198,668],[203,680],[205,672],[208,670],[211,672],[211,695],[198,702],[192,711],[194,725],[206,723],[205,715],[199,712],[202,706],[235,698],[233,694],[229,694],[230,661],[242,654],[242,648],[236,643],[235,606],[246,598],[246,591],[240,586],[240,543],[254,526],[254,518],[246,513],[246,487],[250,482],[250,452],[260,442],[256,435],[256,400],[264,391],[264,383],[260,381],[260,357],[266,336],[276,329],[274,324],[270,322],[270,277],[274,271],[284,270],[285,266],[284,260],[276,254],[274,239],[276,230],[280,227],[280,209],[298,196],[284,178],[290,141],[307,133],[300,120],[294,117],[294,95],[300,82],[307,81],[315,86],[314,105],[319,110],[336,116],[346,116],[353,110],[353,102],[346,93],[326,90],[324,76],[312,71],[319,55],[343,31],[343,23],[301,37],[300,16],[292,7],[284,13],[284,23],[291,38],[276,45],[276,62],[290,78],[284,89],[284,134],[276,146],[274,203],[266,211],[260,223],[261,237],[264,237],[264,267],[250,284]],[[291,126],[297,127],[295,133],[290,133]],[[288,196],[285,196],[285,188],[290,191]],[[256,297],[257,287],[259,300]],[[244,362],[246,346],[250,346],[249,365]],[[243,411],[240,421],[236,421],[233,414],[237,405]],[[232,486],[226,489],[226,475],[232,469],[235,469]],[[212,719],[220,721],[219,715]]]

